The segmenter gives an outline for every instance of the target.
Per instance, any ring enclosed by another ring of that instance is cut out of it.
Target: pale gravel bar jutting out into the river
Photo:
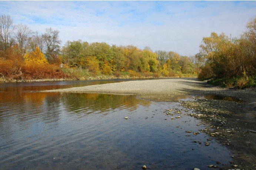
[[[159,80],[124,81],[68,89],[45,90],[44,92],[136,94],[138,98],[154,101],[178,101],[189,95],[219,94],[230,97],[246,98],[243,90],[213,87],[196,78],[173,78]],[[253,97],[253,96],[252,96]]]

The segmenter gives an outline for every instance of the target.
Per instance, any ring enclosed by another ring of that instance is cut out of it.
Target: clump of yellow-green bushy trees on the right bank
[[[195,58],[201,63],[200,79],[213,84],[243,88],[256,83],[256,18],[246,25],[240,37],[212,32],[204,37]]]

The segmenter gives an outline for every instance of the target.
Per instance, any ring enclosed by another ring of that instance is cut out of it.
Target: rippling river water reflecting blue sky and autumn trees
[[[200,120],[186,115],[172,120],[164,113],[179,103],[36,92],[120,81],[127,80],[0,84],[0,169],[202,170],[229,163],[229,151],[216,140],[205,146],[205,133],[185,132],[205,129]]]

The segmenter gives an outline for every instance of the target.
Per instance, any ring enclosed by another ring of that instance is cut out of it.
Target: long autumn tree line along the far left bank
[[[9,15],[1,15],[0,30],[0,72],[5,77],[28,72],[24,69],[36,64],[64,67],[59,71],[85,69],[92,76],[154,74],[159,77],[195,73],[192,59],[176,52],[153,52],[149,47],[139,49],[133,45],[116,46],[106,42],[89,44],[82,40],[67,41],[61,47],[59,30],[47,28],[43,34],[39,34],[27,25],[14,25]],[[9,64],[3,66],[4,62]]]

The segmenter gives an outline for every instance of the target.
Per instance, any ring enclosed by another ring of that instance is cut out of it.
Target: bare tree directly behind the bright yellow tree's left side
[[[29,38],[32,34],[32,30],[27,27],[27,25],[19,24],[17,25],[17,31],[15,32],[16,40],[19,44],[19,48],[22,56],[25,55],[29,47]]]

